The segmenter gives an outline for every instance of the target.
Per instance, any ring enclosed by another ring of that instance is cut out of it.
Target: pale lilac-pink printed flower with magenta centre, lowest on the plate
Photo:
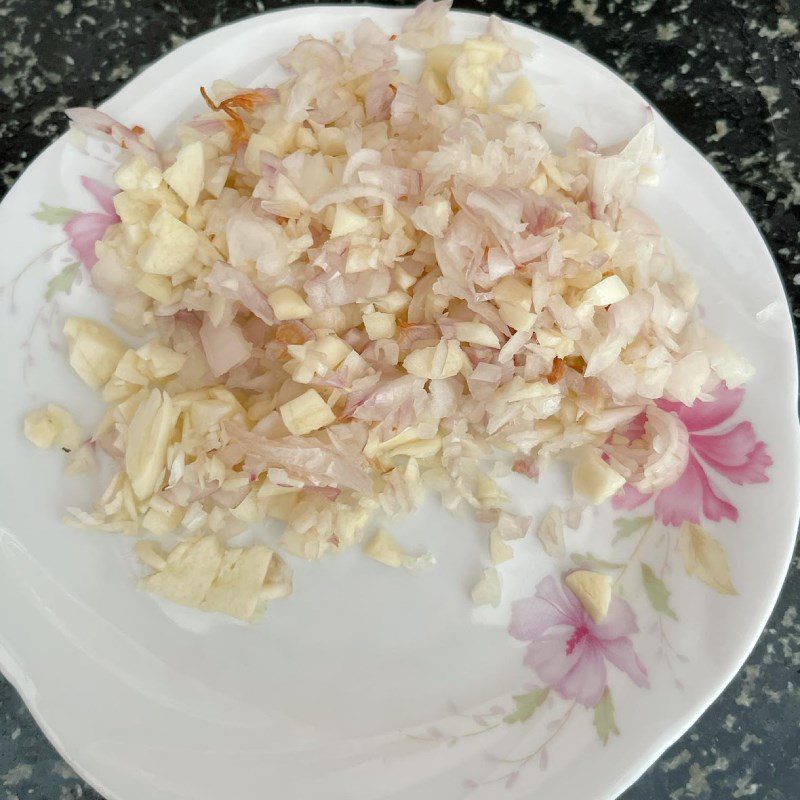
[[[539,582],[533,597],[514,603],[509,633],[527,641],[525,663],[563,698],[596,706],[607,685],[606,662],[637,686],[649,687],[647,670],[633,650],[636,616],[614,597],[603,622],[596,623],[577,597],[554,576]]]

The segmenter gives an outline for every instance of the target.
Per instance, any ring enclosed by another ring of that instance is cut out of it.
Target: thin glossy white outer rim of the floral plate
[[[109,105],[113,105],[114,101],[119,97],[120,94],[128,90],[129,88],[133,87],[136,84],[142,84],[145,81],[152,78],[152,73],[155,72],[158,68],[160,68],[165,61],[170,59],[171,57],[175,56],[177,53],[184,51],[184,53],[190,48],[196,48],[198,44],[200,44],[203,40],[212,37],[212,36],[220,36],[224,35],[224,32],[231,31],[237,27],[244,27],[248,23],[252,22],[254,19],[261,19],[263,17],[277,17],[277,16],[285,16],[290,17],[297,13],[307,12],[307,11],[315,11],[315,12],[322,12],[322,13],[331,13],[331,12],[342,12],[344,10],[348,11],[363,11],[365,15],[369,13],[369,11],[390,11],[393,13],[406,11],[410,12],[412,10],[411,6],[395,6],[395,5],[383,5],[377,3],[366,3],[366,4],[355,4],[355,3],[320,3],[320,4],[309,4],[309,3],[302,3],[298,5],[292,5],[290,7],[285,8],[275,8],[275,9],[268,9],[265,11],[257,12],[254,14],[249,14],[241,19],[234,20],[223,25],[219,25],[216,27],[211,28],[210,30],[204,31],[203,33],[183,42],[178,47],[170,50],[167,53],[159,56],[154,61],[150,62],[147,66],[145,66],[138,74],[136,74],[133,78],[126,81],[122,86],[120,86],[117,91],[113,94],[105,98],[101,103],[99,103],[96,107],[99,109],[105,109]],[[733,187],[728,183],[725,177],[721,174],[721,172],[714,166],[714,164],[706,157],[706,155],[696,147],[686,136],[684,136],[670,121],[670,119],[665,116],[659,109],[658,105],[651,101],[645,94],[643,94],[637,87],[626,81],[614,68],[610,67],[605,62],[601,61],[596,56],[592,55],[583,50],[579,50],[576,48],[572,43],[568,40],[565,40],[559,36],[556,36],[552,33],[549,33],[545,30],[542,30],[539,27],[534,26],[533,24],[528,24],[525,22],[519,22],[516,20],[509,19],[500,14],[489,14],[482,11],[473,11],[473,10],[465,10],[465,9],[457,9],[454,8],[451,12],[451,15],[459,16],[459,17],[467,17],[472,19],[481,19],[485,20],[489,16],[497,16],[502,21],[511,26],[512,28],[521,29],[526,34],[530,34],[531,32],[535,33],[538,36],[545,37],[549,40],[556,42],[559,45],[569,48],[570,50],[577,51],[583,57],[590,59],[594,65],[603,72],[605,72],[608,76],[613,78],[616,82],[621,84],[626,91],[633,92],[635,95],[647,106],[653,109],[653,111],[658,116],[660,122],[667,127],[667,129],[676,136],[682,145],[688,147],[690,150],[694,151],[703,161],[703,168],[713,176],[713,179],[721,184],[721,187],[728,193],[728,195],[735,201],[737,206],[744,211],[749,227],[750,227],[750,234],[756,234],[758,239],[760,240],[761,247],[766,256],[769,257],[769,260],[772,263],[773,267],[773,278],[777,279],[778,285],[780,286],[781,292],[783,293],[784,303],[781,306],[781,314],[783,314],[784,318],[788,317],[789,328],[792,331],[792,342],[794,347],[794,360],[791,364],[792,375],[790,376],[790,383],[792,385],[793,396],[797,398],[798,396],[798,371],[800,367],[800,345],[798,344],[798,328],[800,324],[795,321],[794,316],[792,315],[791,310],[791,301],[789,298],[789,294],[786,288],[786,284],[784,283],[783,277],[781,275],[780,269],[778,267],[777,260],[775,255],[773,254],[769,243],[766,240],[766,237],[762,233],[761,229],[758,227],[756,220],[751,213],[750,209],[745,205],[744,202],[739,198]],[[0,203],[0,211],[3,208],[7,208],[10,204],[12,204],[16,200],[16,195],[18,194],[18,188],[21,183],[21,179],[25,172],[30,170],[37,162],[43,160],[52,148],[57,147],[62,140],[66,137],[66,133],[61,134],[59,137],[54,139],[50,144],[48,144],[37,156],[36,158],[31,161],[26,169],[23,171],[22,174],[15,180],[12,187],[6,192],[2,203]],[[785,322],[786,320],[784,320]],[[797,407],[795,407],[795,416],[792,419],[793,425],[791,430],[791,440],[792,440],[792,449],[795,453],[800,452],[800,420],[798,420],[797,416]],[[788,431],[787,431],[788,434]],[[787,436],[787,438],[789,438]],[[753,649],[756,647],[758,640],[761,638],[761,635],[769,622],[769,619],[775,610],[777,605],[778,599],[780,594],[786,584],[786,577],[788,571],[791,567],[794,550],[797,545],[798,541],[798,525],[800,525],[800,490],[794,495],[792,499],[792,505],[794,506],[794,513],[793,518],[795,520],[794,524],[794,532],[789,539],[788,535],[786,537],[786,544],[784,547],[784,552],[781,556],[780,562],[776,558],[776,567],[778,567],[778,573],[780,575],[780,580],[776,581],[773,584],[770,584],[770,588],[764,590],[764,598],[766,599],[766,605],[764,613],[761,615],[762,619],[759,623],[757,628],[754,628],[753,632],[746,636],[746,637],[737,637],[736,642],[740,643],[740,646],[735,646],[735,649],[738,652],[738,655],[733,659],[733,665],[729,669],[726,669],[720,673],[720,678],[718,681],[715,681],[717,688],[710,692],[708,695],[704,696],[702,699],[697,700],[695,703],[692,704],[691,710],[687,711],[684,715],[680,718],[673,720],[669,725],[667,725],[662,733],[655,737],[652,743],[646,747],[645,752],[643,755],[637,759],[633,764],[627,766],[624,770],[621,770],[618,773],[618,778],[613,785],[610,785],[603,789],[603,794],[598,795],[596,800],[614,800],[617,798],[623,791],[627,788],[632,786],[638,778],[640,778],[646,771],[649,769],[659,758],[660,756],[669,748],[672,744],[674,744],[678,739],[680,739],[696,722],[697,720],[708,710],[708,708],[717,700],[717,698],[722,694],[722,692],[728,687],[731,681],[736,677],[736,675],[740,672],[744,664],[746,663],[747,659],[753,652]],[[0,528],[0,539],[3,538],[4,531]],[[746,646],[744,646],[746,645]],[[14,687],[14,689],[18,692],[21,699],[25,703],[27,709],[29,710],[31,716],[33,717],[34,721],[44,733],[48,741],[53,745],[55,750],[58,752],[59,756],[64,759],[64,761],[89,785],[103,794],[107,800],[129,800],[125,796],[118,794],[115,790],[112,790],[108,786],[105,785],[103,781],[98,779],[92,772],[91,769],[84,768],[80,764],[80,755],[72,756],[67,754],[66,750],[62,747],[61,739],[58,733],[54,730],[53,726],[44,718],[43,712],[38,706],[37,703],[37,693],[35,687],[28,684],[25,680],[24,673],[22,672],[21,668],[17,664],[13,654],[12,649],[10,648],[9,644],[6,642],[5,636],[3,635],[2,630],[0,630],[0,672],[3,673],[5,678],[9,681],[9,683]],[[608,793],[606,793],[608,792]]]

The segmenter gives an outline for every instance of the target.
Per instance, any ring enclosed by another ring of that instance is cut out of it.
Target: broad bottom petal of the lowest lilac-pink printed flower
[[[591,637],[585,637],[567,652],[574,633],[573,628],[567,628],[532,642],[525,663],[562,697],[594,706],[605,689],[605,662]]]

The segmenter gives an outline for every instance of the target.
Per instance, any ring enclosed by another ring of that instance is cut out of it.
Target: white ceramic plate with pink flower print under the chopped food
[[[163,133],[201,109],[200,84],[277,78],[276,54],[300,34],[351,29],[365,15],[396,31],[407,13],[337,6],[248,19],[179,48],[104,108]],[[453,21],[457,35],[485,23],[467,13]],[[581,125],[607,144],[642,123],[645,101],[608,69],[514,28],[536,46],[527,71],[557,137]],[[708,322],[758,373],[746,393],[684,414],[698,461],[678,493],[632,511],[596,510],[571,537],[573,550],[618,565],[606,569],[625,600],[604,627],[587,625],[564,599],[560,612],[550,609],[550,627],[541,624],[542,598],[563,592],[568,563],[534,542],[503,567],[504,605],[475,611],[467,588],[485,545],[476,526],[434,504],[400,527],[409,546],[435,553],[436,570],[410,576],[356,551],[299,564],[295,594],[255,627],[137,592],[130,541],[59,522],[65,504],[87,501],[97,486],[66,479],[61,459],[20,434],[23,414],[45,400],[87,425],[99,411],[65,365],[58,329],[66,314],[102,307],[85,279],[78,285],[68,239],[80,245],[80,231],[88,237],[108,222],[102,193],[81,176],[108,184],[111,158],[102,150],[89,158],[62,139],[19,180],[0,210],[0,666],[64,757],[107,797],[602,800],[735,674],[775,602],[798,520],[794,337],[752,220],[658,114],[656,124],[662,180],[640,204],[696,276]],[[42,203],[57,207],[39,215],[50,224],[34,217]],[[65,230],[71,212],[60,207],[96,216]],[[47,300],[48,281],[64,269]],[[75,272],[71,293],[57,291]],[[567,498],[557,471],[539,488],[514,488],[534,513]],[[719,546],[699,542],[691,576],[678,528],[666,523],[693,513]]]

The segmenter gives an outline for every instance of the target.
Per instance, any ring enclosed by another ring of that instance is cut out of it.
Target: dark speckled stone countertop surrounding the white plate
[[[0,0],[0,194],[158,56],[260,0]],[[553,33],[647,95],[750,209],[800,316],[800,0],[460,2]],[[624,800],[800,797],[800,563],[747,666]],[[6,610],[7,613],[8,610]],[[101,800],[0,679],[0,800]],[[554,800],[542,798],[542,800]]]

